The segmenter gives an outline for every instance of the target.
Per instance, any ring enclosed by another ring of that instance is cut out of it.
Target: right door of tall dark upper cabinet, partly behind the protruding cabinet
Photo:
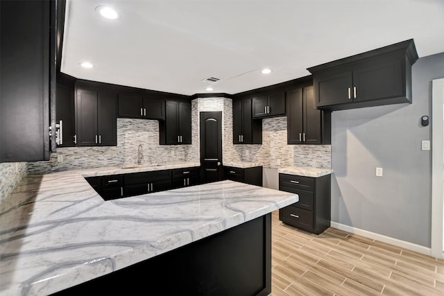
[[[314,88],[305,87],[303,94],[304,132],[302,133],[302,140],[306,144],[321,144],[321,110],[316,109]]]

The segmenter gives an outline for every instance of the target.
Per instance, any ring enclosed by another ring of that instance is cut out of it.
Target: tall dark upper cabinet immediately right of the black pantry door
[[[262,144],[262,120],[253,120],[251,98],[233,100],[233,143]]]

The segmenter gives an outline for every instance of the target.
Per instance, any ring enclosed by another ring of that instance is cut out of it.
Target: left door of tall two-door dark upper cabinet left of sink
[[[97,92],[87,89],[76,90],[76,134],[77,146],[96,146]]]

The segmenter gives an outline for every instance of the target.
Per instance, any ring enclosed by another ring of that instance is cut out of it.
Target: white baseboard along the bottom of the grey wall
[[[401,241],[398,238],[391,238],[390,236],[383,236],[382,234],[377,234],[375,232],[369,232],[367,230],[351,227],[337,222],[330,222],[330,226],[341,229],[345,232],[350,232],[352,234],[359,234],[361,236],[366,236],[368,238],[377,239],[384,243],[390,243],[391,245],[396,245],[398,247],[404,247],[405,249],[412,250],[415,252],[420,252],[432,256],[432,249],[429,247],[424,247],[422,245],[416,245],[415,243],[409,243],[408,241]]]

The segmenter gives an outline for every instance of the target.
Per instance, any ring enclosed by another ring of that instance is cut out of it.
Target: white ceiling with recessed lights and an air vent
[[[236,94],[411,38],[420,57],[444,52],[443,0],[68,0],[62,72],[187,95],[214,76],[214,92]]]

